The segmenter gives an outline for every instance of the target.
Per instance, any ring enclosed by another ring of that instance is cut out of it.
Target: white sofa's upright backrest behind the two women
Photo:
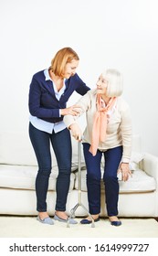
[[[72,164],[78,163],[78,142],[72,138]],[[133,151],[141,152],[139,135],[133,136]],[[83,154],[81,156],[83,162]],[[56,157],[52,151],[53,166],[57,165]],[[37,159],[29,139],[25,132],[0,132],[0,164],[6,165],[37,165]]]

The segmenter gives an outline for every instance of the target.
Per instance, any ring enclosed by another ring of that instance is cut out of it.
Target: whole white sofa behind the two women
[[[141,152],[139,135],[133,136],[132,177],[120,182],[120,217],[158,217],[158,157]],[[67,212],[78,203],[78,143],[72,138],[72,174],[68,193]],[[63,142],[64,146],[64,142]],[[47,192],[47,210],[54,215],[58,166],[52,153],[53,166]],[[88,208],[86,167],[81,159],[81,203]],[[35,178],[37,161],[26,133],[0,133],[0,214],[37,215]],[[103,186],[101,187],[103,190]],[[77,217],[85,216],[84,208],[77,208]],[[101,193],[100,216],[106,217],[104,193]]]

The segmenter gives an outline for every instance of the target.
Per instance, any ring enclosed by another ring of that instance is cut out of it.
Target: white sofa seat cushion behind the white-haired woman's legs
[[[87,191],[86,186],[86,170],[81,171],[81,190]],[[132,172],[132,177],[128,181],[123,182],[119,178],[120,193],[142,193],[150,192],[156,189],[156,181],[152,176],[148,176],[141,169]],[[76,173],[75,188],[78,189],[78,174]],[[101,179],[101,191],[104,191],[104,184]]]

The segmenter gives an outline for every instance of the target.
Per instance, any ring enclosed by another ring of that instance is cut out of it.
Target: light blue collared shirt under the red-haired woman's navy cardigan
[[[44,74],[45,74],[46,80],[51,80],[49,73],[48,73],[48,69],[44,70]],[[64,80],[64,86],[60,89],[60,91],[57,91],[56,85],[53,83],[53,80],[52,80],[52,86],[54,88],[56,98],[59,101],[61,95],[66,90],[65,80]],[[37,116],[33,116],[31,114],[29,116],[29,121],[38,130],[46,132],[46,133],[50,133],[50,134],[53,132],[53,130],[55,133],[58,133],[66,128],[66,125],[63,121],[58,122],[58,123],[48,123],[47,121],[37,118]]]

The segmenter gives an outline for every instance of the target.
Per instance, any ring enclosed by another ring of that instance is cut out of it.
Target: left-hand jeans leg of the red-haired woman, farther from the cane
[[[29,123],[29,136],[37,156],[36,178],[37,211],[47,211],[47,188],[51,173],[50,134],[39,131]]]

